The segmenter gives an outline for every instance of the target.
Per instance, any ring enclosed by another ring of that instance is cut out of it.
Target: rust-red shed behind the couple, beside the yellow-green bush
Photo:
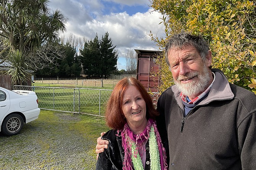
[[[158,72],[160,67],[155,63],[161,51],[154,50],[135,50],[137,53],[137,79],[147,91],[158,92],[160,83],[159,77],[152,73]]]

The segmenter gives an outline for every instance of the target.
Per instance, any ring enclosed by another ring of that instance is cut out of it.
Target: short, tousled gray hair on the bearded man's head
[[[201,55],[203,61],[205,61],[208,54],[209,45],[202,37],[197,35],[191,35],[186,32],[174,34],[170,37],[165,44],[165,61],[170,67],[168,52],[170,49],[177,48],[183,50],[186,46],[193,46]]]

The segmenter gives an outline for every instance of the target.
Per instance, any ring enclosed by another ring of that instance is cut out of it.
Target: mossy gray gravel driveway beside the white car
[[[1,134],[0,170],[94,170],[96,138],[75,128],[81,116],[52,112],[24,125],[19,135]]]

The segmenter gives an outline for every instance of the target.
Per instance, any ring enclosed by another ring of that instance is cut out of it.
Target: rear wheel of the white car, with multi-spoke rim
[[[23,128],[24,120],[18,114],[8,115],[2,123],[2,133],[6,136],[17,135]]]

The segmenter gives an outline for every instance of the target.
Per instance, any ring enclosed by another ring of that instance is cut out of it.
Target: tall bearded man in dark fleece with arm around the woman
[[[175,85],[157,102],[157,128],[169,169],[255,169],[256,95],[211,69],[212,53],[199,36],[170,37],[165,59]],[[106,143],[97,141],[99,153]]]

